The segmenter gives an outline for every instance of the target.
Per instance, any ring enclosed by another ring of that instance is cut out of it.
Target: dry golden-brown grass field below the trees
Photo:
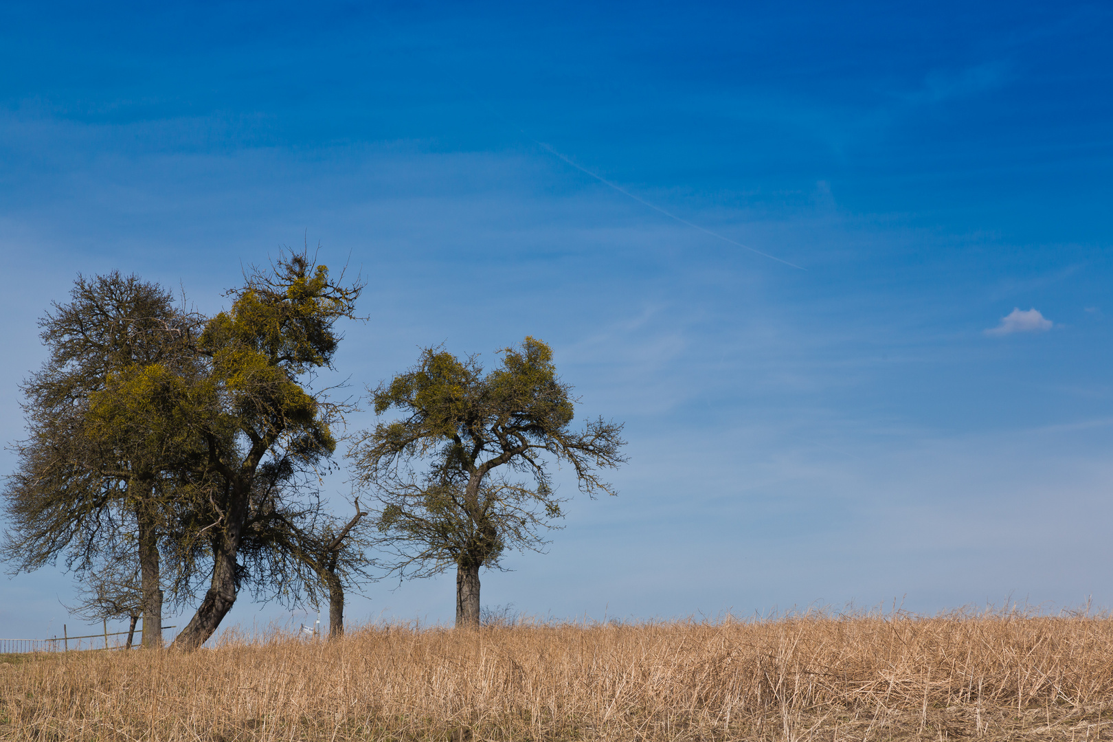
[[[4,740],[1113,740],[1113,620],[226,634],[0,664]]]

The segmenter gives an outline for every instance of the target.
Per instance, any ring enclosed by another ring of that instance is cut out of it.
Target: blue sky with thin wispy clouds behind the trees
[[[356,387],[531,334],[627,423],[621,495],[485,604],[1113,605],[1111,31],[1068,2],[4,3],[2,437],[78,273],[215,311],[308,240],[368,279]],[[349,616],[451,619],[453,585]],[[70,594],[6,580],[0,633]]]

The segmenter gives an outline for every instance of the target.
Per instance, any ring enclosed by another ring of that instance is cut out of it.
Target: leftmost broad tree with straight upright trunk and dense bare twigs
[[[17,572],[61,556],[80,576],[106,554],[134,555],[149,647],[161,645],[160,542],[198,453],[167,390],[196,373],[199,321],[157,284],[79,276],[39,323],[50,355],[22,385],[30,435],[13,444],[2,493],[2,553]]]

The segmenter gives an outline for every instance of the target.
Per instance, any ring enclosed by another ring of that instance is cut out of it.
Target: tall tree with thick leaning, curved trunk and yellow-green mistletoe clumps
[[[232,308],[206,324],[198,350],[208,362],[209,396],[195,403],[203,410],[195,429],[207,449],[199,475],[219,481],[203,511],[211,572],[175,646],[200,646],[232,610],[244,577],[240,548],[260,524],[275,512],[296,518],[312,511],[256,478],[267,467],[275,481],[296,477],[332,456],[332,426],[345,407],[307,383],[316,369],[332,367],[341,339],[334,326],[354,316],[361,290],[358,283],[331,278],[304,251],[283,255],[269,270],[253,269],[230,291]]]

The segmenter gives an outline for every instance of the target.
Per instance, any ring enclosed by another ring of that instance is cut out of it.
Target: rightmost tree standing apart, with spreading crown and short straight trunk
[[[427,576],[456,567],[456,625],[480,624],[480,568],[508,546],[538,548],[561,516],[553,464],[571,465],[581,492],[615,494],[599,469],[621,455],[622,425],[571,427],[577,399],[552,350],[526,337],[484,373],[475,356],[431,347],[416,366],[380,384],[375,413],[396,410],[358,434],[349,452],[361,486],[377,497],[376,525],[393,570]],[[524,476],[519,481],[514,475]]]

